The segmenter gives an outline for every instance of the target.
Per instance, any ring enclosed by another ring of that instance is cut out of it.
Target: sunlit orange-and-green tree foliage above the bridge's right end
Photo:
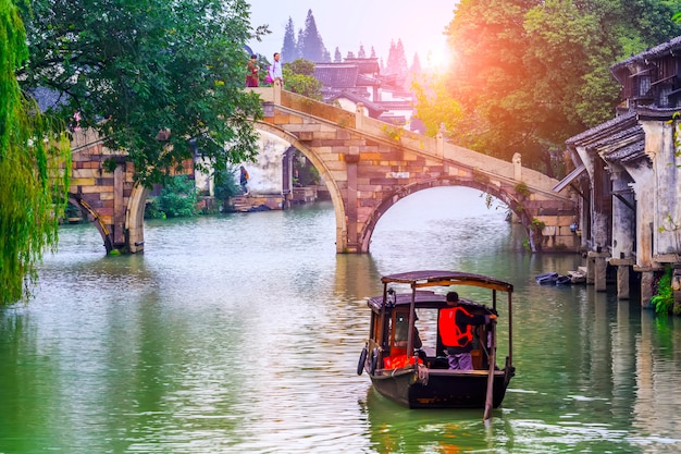
[[[520,152],[550,174],[567,138],[615,114],[609,66],[679,35],[680,3],[462,0],[446,32],[447,91],[462,111],[448,136],[503,159]]]

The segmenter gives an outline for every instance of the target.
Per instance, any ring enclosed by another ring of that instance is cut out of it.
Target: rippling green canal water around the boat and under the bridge
[[[475,191],[428,189],[369,255],[336,255],[327,204],[150,221],[128,257],[64,226],[35,298],[0,310],[0,453],[680,452],[681,322],[537,285],[581,258],[528,254],[505,218]],[[515,284],[517,376],[491,424],[357,376],[367,298],[411,269]]]

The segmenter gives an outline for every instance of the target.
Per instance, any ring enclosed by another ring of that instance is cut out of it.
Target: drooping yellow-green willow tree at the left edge
[[[16,81],[27,57],[16,8],[0,0],[0,305],[30,295],[44,250],[57,245],[69,186],[69,143]]]

